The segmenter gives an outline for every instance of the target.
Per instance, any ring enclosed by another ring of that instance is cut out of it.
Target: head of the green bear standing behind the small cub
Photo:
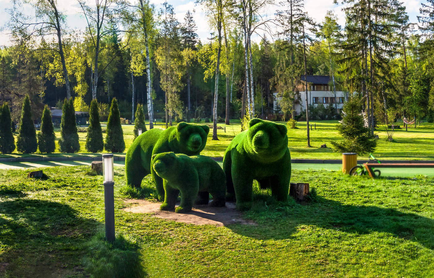
[[[210,128],[205,124],[187,124],[185,122],[179,123],[176,130],[181,153],[187,155],[199,154],[207,144],[207,136],[210,132]]]

